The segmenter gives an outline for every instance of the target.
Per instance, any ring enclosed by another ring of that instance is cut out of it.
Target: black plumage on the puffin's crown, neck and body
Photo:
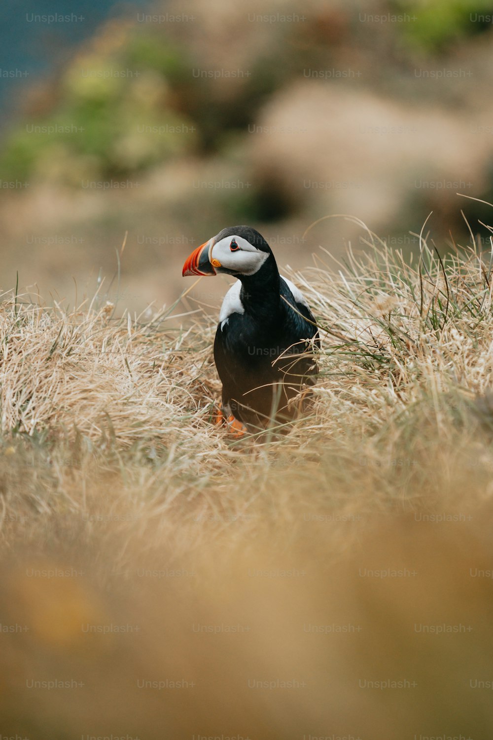
[[[279,422],[290,420],[298,411],[288,408],[290,399],[315,382],[313,351],[303,340],[314,339],[319,346],[316,322],[310,309],[296,302],[258,232],[247,227],[228,230],[269,256],[254,275],[238,275],[245,313],[233,313],[225,326],[217,326],[214,360],[222,403],[245,425],[265,426],[271,414]],[[221,235],[228,234],[221,232],[218,238]]]

